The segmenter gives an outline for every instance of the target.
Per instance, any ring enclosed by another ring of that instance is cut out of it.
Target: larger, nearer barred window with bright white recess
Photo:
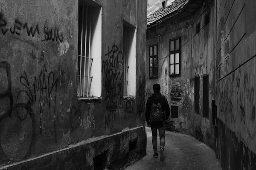
[[[79,0],[78,96],[101,96],[101,6]]]

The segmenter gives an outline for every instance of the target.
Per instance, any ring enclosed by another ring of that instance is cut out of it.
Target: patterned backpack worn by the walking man
[[[150,110],[150,122],[163,122],[165,114],[159,102],[154,102]]]

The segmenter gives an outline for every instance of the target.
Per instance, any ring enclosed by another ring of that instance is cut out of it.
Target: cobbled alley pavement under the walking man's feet
[[[166,131],[165,159],[154,158],[151,128],[146,127],[147,154],[124,170],[221,170],[215,152],[192,136]]]

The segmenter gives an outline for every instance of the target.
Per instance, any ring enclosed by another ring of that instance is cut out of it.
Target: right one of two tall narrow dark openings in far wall
[[[203,116],[209,117],[209,77],[203,77]]]

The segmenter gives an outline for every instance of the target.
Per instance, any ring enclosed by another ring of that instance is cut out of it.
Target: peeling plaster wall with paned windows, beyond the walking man
[[[169,105],[177,105],[177,118],[169,118],[167,127],[186,134],[214,147],[211,102],[215,87],[215,4],[206,3],[194,16],[166,21],[164,26],[148,28],[146,36],[146,97],[153,92],[153,84],[161,85],[161,93]],[[204,17],[209,12],[209,24],[204,26]],[[176,20],[176,21],[175,21]],[[195,27],[200,24],[200,32]],[[169,40],[181,36],[180,77],[169,76]],[[148,77],[148,46],[158,43],[158,78]],[[203,76],[209,75],[209,117],[203,117]],[[195,114],[194,77],[200,77],[200,112]],[[171,113],[172,115],[173,113]]]

